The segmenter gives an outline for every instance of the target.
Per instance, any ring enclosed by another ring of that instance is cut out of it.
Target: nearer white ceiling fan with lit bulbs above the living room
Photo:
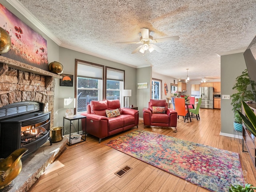
[[[160,39],[153,39],[151,35],[149,35],[149,30],[146,28],[140,29],[141,37],[139,42],[116,42],[116,43],[122,43],[122,44],[142,44],[138,48],[136,48],[133,53],[136,53],[140,51],[142,54],[148,50],[150,53],[154,50],[157,52],[163,52],[164,50],[153,43],[160,43],[160,42],[166,42],[166,41],[176,41],[179,40],[179,36],[173,36],[173,37],[165,37]]]

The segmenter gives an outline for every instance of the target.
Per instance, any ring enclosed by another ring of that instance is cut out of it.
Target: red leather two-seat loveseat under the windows
[[[107,117],[106,110],[109,116],[114,117]],[[139,111],[121,108],[119,100],[91,101],[87,112],[82,115],[86,116],[86,132],[100,138],[99,143],[102,138],[134,126],[138,128],[139,124]],[[85,130],[85,119],[82,119],[82,129]]]

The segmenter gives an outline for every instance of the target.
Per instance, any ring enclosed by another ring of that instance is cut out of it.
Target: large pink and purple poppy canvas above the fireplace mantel
[[[48,71],[47,41],[2,4],[0,27],[9,33],[12,42],[2,56]]]

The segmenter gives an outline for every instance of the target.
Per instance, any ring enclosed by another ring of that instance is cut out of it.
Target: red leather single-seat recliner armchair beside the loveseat
[[[164,113],[154,113],[153,106],[164,107]],[[143,120],[145,126],[175,127],[176,129],[177,116],[177,112],[174,109],[168,108],[166,100],[150,99],[148,108],[143,108]]]

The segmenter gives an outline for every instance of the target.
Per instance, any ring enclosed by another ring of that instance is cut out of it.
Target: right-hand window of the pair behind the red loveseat
[[[122,90],[124,89],[124,70],[106,67],[106,99],[119,99],[123,106]]]

